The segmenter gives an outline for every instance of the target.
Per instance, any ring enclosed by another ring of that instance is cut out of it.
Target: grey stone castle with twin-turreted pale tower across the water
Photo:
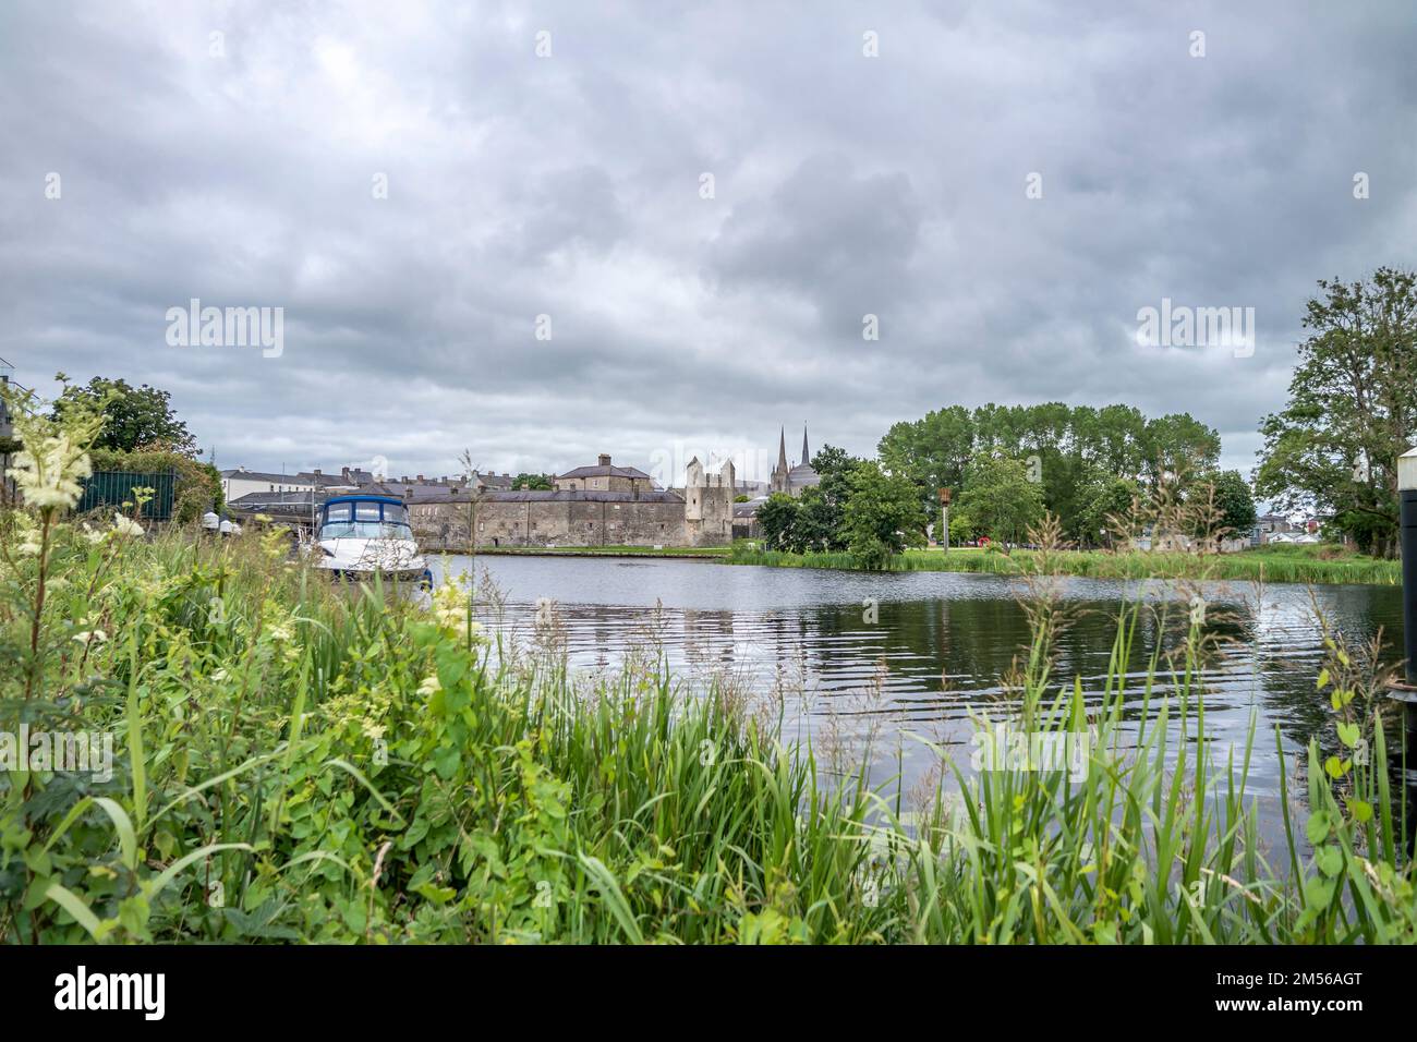
[[[805,442],[803,442],[805,447]],[[404,495],[421,546],[723,546],[733,540],[737,483],[733,461],[710,472],[689,461],[683,493],[656,489],[648,474],[592,466],[557,475],[553,491],[482,485],[410,488]],[[398,492],[397,485],[391,489]],[[473,520],[475,519],[475,520]]]

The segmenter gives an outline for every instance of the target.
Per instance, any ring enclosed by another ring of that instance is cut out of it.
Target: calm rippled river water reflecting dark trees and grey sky
[[[874,750],[881,778],[904,770],[913,784],[938,753],[966,766],[971,710],[1006,709],[1000,678],[1029,642],[1017,601],[1022,584],[999,576],[952,573],[860,574],[808,568],[723,566],[691,560],[479,557],[506,595],[502,625],[527,639],[540,598],[555,601],[567,649],[581,669],[615,668],[632,646],[662,644],[686,679],[737,678],[751,690],[788,692],[789,734],[860,754]],[[468,559],[448,557],[435,571],[458,574]],[[1101,690],[1124,595],[1166,608],[1173,625],[1144,618],[1129,669],[1145,672],[1156,642],[1175,646],[1185,632],[1193,588],[1166,583],[1091,578],[1063,581],[1073,621],[1058,639],[1056,676]],[[1243,750],[1251,715],[1255,743],[1250,791],[1278,792],[1274,726],[1287,750],[1311,734],[1332,740],[1326,698],[1314,680],[1322,639],[1314,604],[1350,639],[1382,629],[1389,655],[1401,646],[1401,601],[1394,587],[1204,584],[1212,629],[1233,644],[1207,665],[1207,730],[1216,751]],[[869,605],[879,608],[869,620]],[[1168,690],[1161,685],[1161,690]],[[1139,685],[1134,713],[1142,712]],[[1153,696],[1153,709],[1155,709]],[[897,763],[897,756],[901,763]],[[1291,757],[1292,761],[1292,757]]]

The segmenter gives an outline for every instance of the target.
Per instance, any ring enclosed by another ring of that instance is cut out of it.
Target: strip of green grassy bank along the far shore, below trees
[[[1226,554],[1144,553],[1107,550],[1054,550],[1050,568],[1066,576],[1091,578],[1216,578],[1265,583],[1374,583],[1400,586],[1401,563],[1374,560],[1357,554],[1323,557],[1326,547],[1277,546]],[[1024,574],[1037,567],[1032,550],[981,550],[955,547],[944,550],[907,550],[891,564],[893,571],[983,571],[1000,576]],[[727,560],[733,564],[765,564],[795,568],[857,570],[850,553],[792,554],[735,546]]]

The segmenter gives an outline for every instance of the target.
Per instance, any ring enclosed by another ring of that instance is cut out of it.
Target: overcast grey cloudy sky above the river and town
[[[1417,264],[1414,54],[1408,0],[7,1],[0,356],[221,466],[765,476],[1061,400],[1248,471],[1315,279]],[[191,298],[279,356],[173,346]],[[1253,354],[1138,344],[1163,298]]]

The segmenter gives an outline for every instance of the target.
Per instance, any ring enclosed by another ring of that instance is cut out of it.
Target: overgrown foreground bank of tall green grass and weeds
[[[1321,685],[1373,764],[1312,746],[1267,863],[1250,750],[1214,763],[1185,737],[1196,632],[1153,659],[1182,693],[1138,736],[1124,698],[1135,719],[1151,676],[1111,671],[1084,712],[1040,604],[1017,726],[1091,727],[1080,778],[944,758],[938,784],[883,800],[779,744],[772,706],[676,685],[650,646],[598,679],[567,675],[554,624],[493,655],[453,587],[428,607],[334,590],[256,537],[6,544],[35,553],[6,551],[0,730],[116,741],[108,780],[0,774],[4,941],[1417,936],[1372,692],[1338,646]]]

